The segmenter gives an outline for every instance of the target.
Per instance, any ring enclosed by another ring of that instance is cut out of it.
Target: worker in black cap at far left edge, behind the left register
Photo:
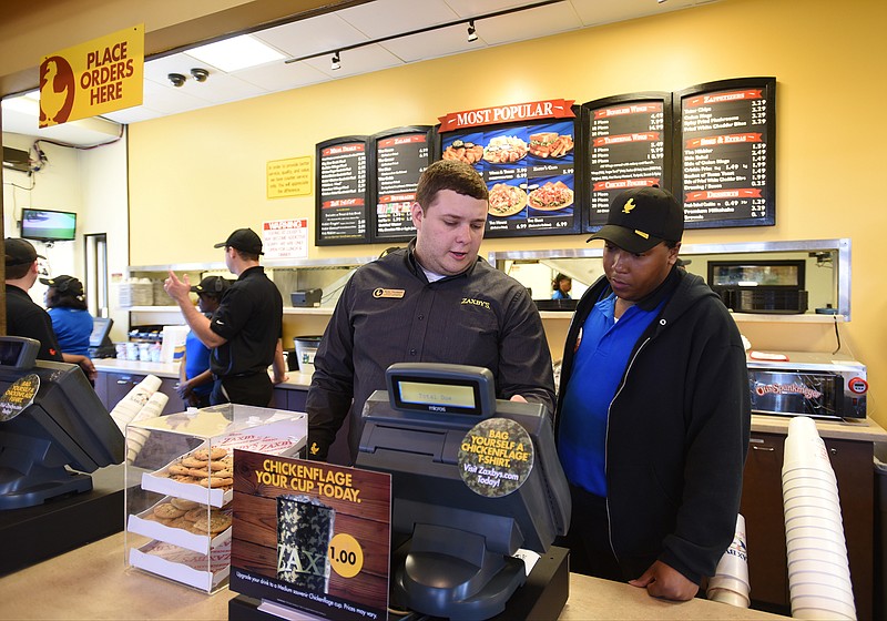
[[[52,319],[38,306],[28,292],[40,275],[37,254],[30,242],[26,240],[6,238],[6,281],[7,281],[7,334],[26,336],[40,342],[39,360],[54,360],[78,365],[92,381],[95,380],[95,366],[88,356],[62,354]]]

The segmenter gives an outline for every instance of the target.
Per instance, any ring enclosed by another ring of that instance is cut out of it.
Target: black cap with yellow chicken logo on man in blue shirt
[[[660,242],[680,242],[683,234],[684,207],[671,192],[632,187],[613,200],[606,224],[588,241],[606,240],[622,250],[643,253]]]

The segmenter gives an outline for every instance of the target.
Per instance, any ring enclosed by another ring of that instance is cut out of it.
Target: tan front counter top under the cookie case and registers
[[[228,618],[227,589],[214,595],[124,568],[124,533],[4,576],[0,619]],[[570,599],[560,619],[785,619],[725,603],[656,600],[643,589],[570,574]]]

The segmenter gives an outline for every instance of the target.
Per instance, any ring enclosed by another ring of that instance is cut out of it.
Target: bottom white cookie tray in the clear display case
[[[165,541],[130,549],[130,564],[195,589],[214,592],[231,573],[231,539],[210,554],[185,550]]]

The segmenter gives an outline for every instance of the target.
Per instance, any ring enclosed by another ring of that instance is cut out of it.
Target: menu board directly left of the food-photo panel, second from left
[[[419,176],[431,163],[431,126],[399,128],[371,140],[375,179],[374,241],[407,242],[416,234],[410,207]]]

